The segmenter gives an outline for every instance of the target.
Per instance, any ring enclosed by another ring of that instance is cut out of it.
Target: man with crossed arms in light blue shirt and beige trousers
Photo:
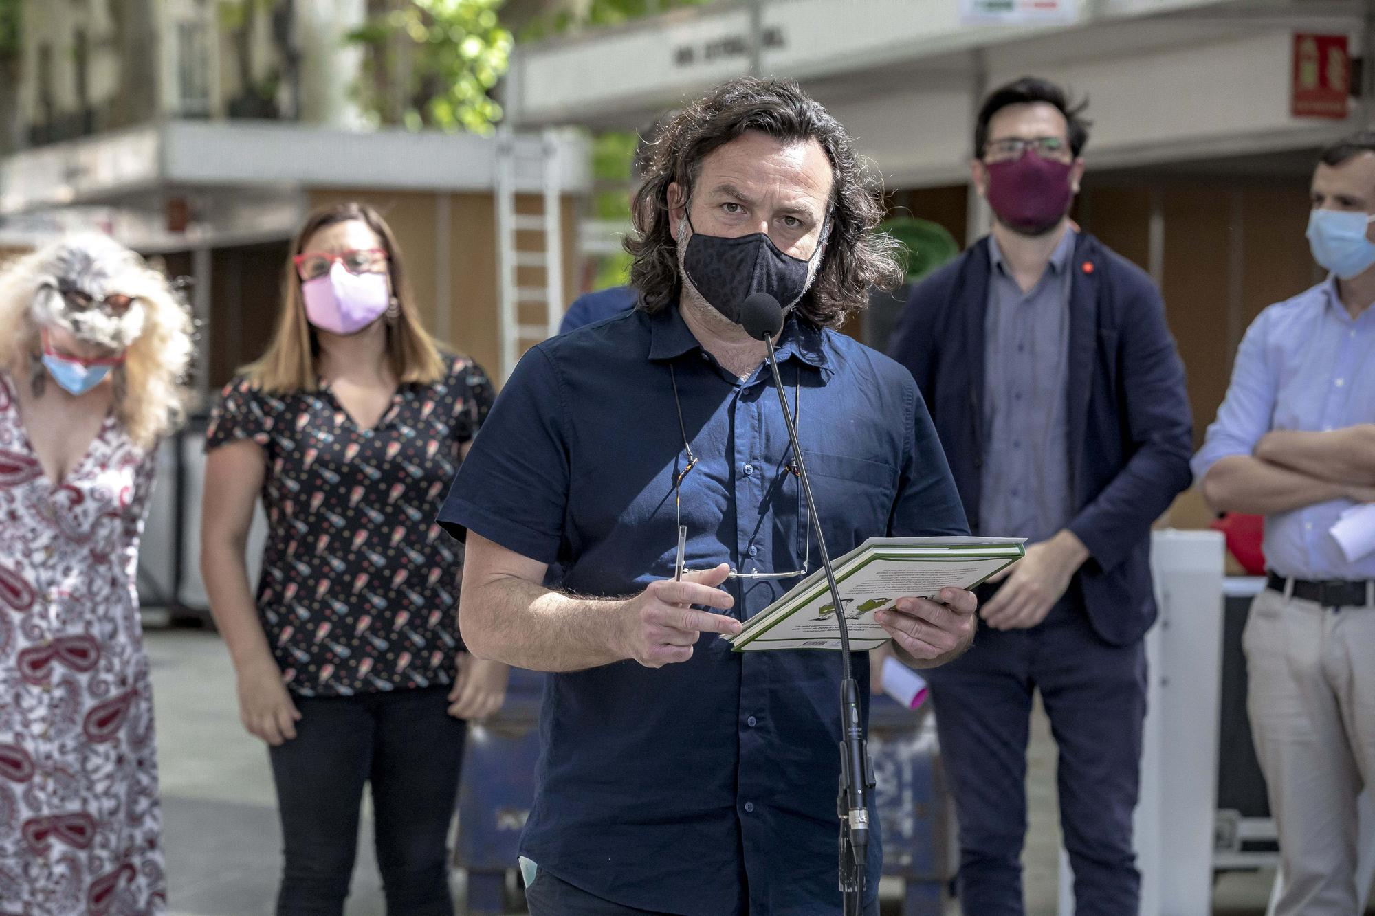
[[[1326,149],[1312,190],[1331,275],[1251,323],[1194,458],[1214,510],[1265,516],[1269,580],[1243,646],[1279,916],[1357,910],[1356,799],[1375,778],[1375,553],[1348,560],[1330,534],[1375,501],[1375,133]]]

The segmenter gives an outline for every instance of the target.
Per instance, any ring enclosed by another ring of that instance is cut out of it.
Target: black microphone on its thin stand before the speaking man
[[[788,396],[778,374],[778,359],[774,355],[774,340],[782,333],[782,305],[769,293],[755,293],[740,304],[740,326],[755,340],[767,347],[769,369],[773,373],[774,391],[778,392],[778,406],[788,425],[788,440],[792,455],[798,461],[798,476],[802,491],[807,497],[807,512],[811,527],[817,532],[817,549],[821,552],[821,567],[830,586],[830,601],[836,608],[836,623],[840,624],[840,798],[836,803],[840,816],[840,891],[844,899],[844,915],[859,916],[864,909],[865,858],[869,850],[869,809],[865,805],[865,789],[872,785],[869,769],[869,748],[865,743],[864,721],[859,718],[859,685],[850,670],[850,627],[846,623],[844,604],[840,601],[840,586],[830,568],[830,553],[817,516],[817,502],[811,498],[811,477],[802,459],[802,446],[798,443],[798,429],[788,411]],[[806,557],[803,557],[806,561]]]

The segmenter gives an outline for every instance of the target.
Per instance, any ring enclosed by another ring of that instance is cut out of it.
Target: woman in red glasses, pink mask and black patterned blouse
[[[276,334],[210,417],[201,538],[241,719],[271,745],[276,912],[344,912],[371,784],[388,913],[450,916],[462,719],[500,707],[507,668],[462,651],[461,547],[434,516],[492,389],[425,333],[374,209],[312,213],[292,253]]]

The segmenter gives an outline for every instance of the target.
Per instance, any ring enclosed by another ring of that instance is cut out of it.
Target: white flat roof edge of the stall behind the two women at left
[[[549,139],[510,138],[517,191],[543,188],[525,164]],[[571,131],[553,142],[558,186],[587,191],[586,142]],[[286,238],[311,190],[491,193],[500,149],[472,133],[169,121],[0,160],[0,235],[94,226],[140,250]]]

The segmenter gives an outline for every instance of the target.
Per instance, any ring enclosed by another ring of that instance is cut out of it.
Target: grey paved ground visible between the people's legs
[[[158,715],[170,904],[177,916],[271,913],[280,835],[267,752],[238,722],[234,677],[219,638],[205,631],[150,630]],[[1028,916],[1053,916],[1056,854],[1055,745],[1045,718],[1033,729],[1030,838],[1024,855]],[[363,825],[349,916],[382,916],[370,827]],[[1270,876],[1218,882],[1217,916],[1261,916]],[[462,890],[462,875],[455,875]],[[883,886],[895,916],[898,887]],[[459,895],[461,898],[461,895]],[[952,906],[952,913],[957,909]]]

